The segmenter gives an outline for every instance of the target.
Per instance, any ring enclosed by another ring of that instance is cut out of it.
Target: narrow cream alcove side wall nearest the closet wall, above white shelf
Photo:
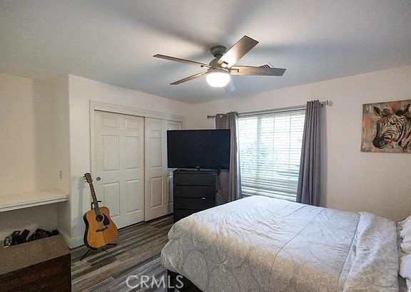
[[[67,84],[67,78],[34,80],[35,175],[36,189],[68,193],[68,90],[62,84]]]

